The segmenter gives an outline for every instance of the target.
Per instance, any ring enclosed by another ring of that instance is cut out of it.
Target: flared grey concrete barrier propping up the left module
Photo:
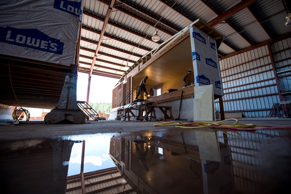
[[[85,116],[77,105],[77,64],[70,65],[58,104],[45,116],[45,124],[85,123]]]

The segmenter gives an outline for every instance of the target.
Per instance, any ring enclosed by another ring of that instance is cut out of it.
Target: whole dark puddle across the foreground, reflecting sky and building
[[[82,158],[75,138],[1,142],[1,187],[4,193],[82,193],[84,180],[86,193],[289,191],[290,131],[238,134],[153,130],[86,137],[84,179],[80,166],[67,177]],[[108,161],[111,166],[103,166]]]

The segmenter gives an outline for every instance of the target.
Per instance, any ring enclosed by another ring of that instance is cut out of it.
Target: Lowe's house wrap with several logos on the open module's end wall
[[[222,96],[220,68],[214,38],[196,26],[190,28],[195,86],[213,85],[213,93]]]

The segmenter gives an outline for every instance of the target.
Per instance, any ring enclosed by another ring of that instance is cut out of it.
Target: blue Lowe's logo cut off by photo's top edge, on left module
[[[80,16],[81,18],[82,15],[81,2],[77,2],[76,0],[55,0],[54,8],[72,14],[76,17]]]

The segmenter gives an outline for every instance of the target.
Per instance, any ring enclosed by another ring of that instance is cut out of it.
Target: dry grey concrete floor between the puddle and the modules
[[[291,129],[290,118],[243,118],[239,124],[254,124],[257,126],[285,126]],[[215,122],[215,121],[213,121]],[[232,124],[225,121],[222,124]],[[27,124],[0,124],[0,141],[24,140],[39,138],[68,138],[69,136],[113,133],[134,134],[146,131],[176,131],[177,127],[156,127],[156,122],[125,122],[125,121],[86,121],[85,124],[45,125],[43,121],[30,121]]]

